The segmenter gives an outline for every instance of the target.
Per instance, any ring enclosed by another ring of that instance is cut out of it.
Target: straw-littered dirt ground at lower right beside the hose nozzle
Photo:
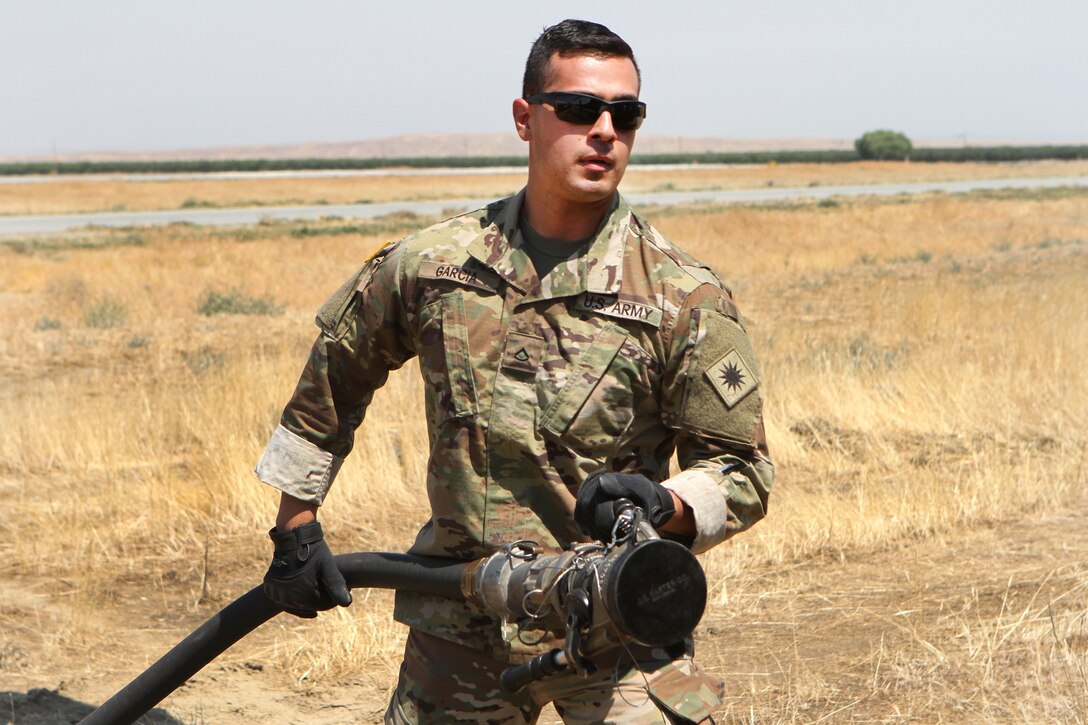
[[[1053,619],[1073,613],[1081,620],[1065,644],[1081,658],[1088,646],[1083,512],[1039,512],[1029,521],[769,572],[703,623],[704,641],[729,642],[720,672],[729,720],[747,720],[739,706],[752,699],[745,690],[757,690],[763,701],[804,703],[768,708],[786,722],[993,722],[990,690],[1031,686],[1015,676],[997,681],[1030,650],[1025,640],[1049,637]],[[1068,687],[1084,688],[1084,674],[1066,673]],[[1083,709],[1077,715],[1049,722],[1084,722]],[[1007,711],[998,722],[1038,715]]]

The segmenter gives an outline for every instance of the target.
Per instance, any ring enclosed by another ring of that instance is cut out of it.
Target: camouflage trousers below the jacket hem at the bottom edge
[[[614,666],[595,675],[560,673],[508,695],[498,685],[508,662],[412,629],[385,722],[528,725],[551,702],[567,725],[714,723],[722,683],[701,672],[690,652],[669,659],[662,650],[644,649],[636,656],[632,663],[616,653]]]

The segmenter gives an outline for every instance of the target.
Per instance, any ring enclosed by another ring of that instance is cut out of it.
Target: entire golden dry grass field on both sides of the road
[[[922,172],[942,173],[628,188]],[[321,183],[0,186],[0,210],[341,200]],[[1088,189],[646,211],[732,284],[766,377],[769,516],[702,557],[719,722],[1088,722]],[[0,238],[0,723],[86,713],[260,580],[276,495],[250,469],[313,310],[425,221]],[[376,396],[322,512],[335,551],[403,550],[424,520],[420,396],[410,365]],[[147,722],[378,722],[405,632],[387,592],[356,593],[265,625]]]

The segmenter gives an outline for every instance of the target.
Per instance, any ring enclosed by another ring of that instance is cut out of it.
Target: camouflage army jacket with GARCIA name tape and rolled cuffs
[[[518,231],[522,198],[385,247],[321,308],[260,479],[320,504],[372,394],[418,357],[431,518],[412,553],[471,560],[518,539],[584,540],[574,494],[601,467],[667,479],[694,511],[695,552],[762,518],[774,468],[730,293],[619,195],[588,251],[541,280]],[[682,470],[669,478],[673,453]],[[395,616],[526,651],[512,626],[467,604],[398,592]]]

